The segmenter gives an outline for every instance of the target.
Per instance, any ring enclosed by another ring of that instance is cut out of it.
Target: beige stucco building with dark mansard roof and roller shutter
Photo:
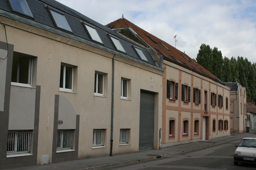
[[[148,49],[56,1],[19,3],[0,4],[0,169],[159,149]]]

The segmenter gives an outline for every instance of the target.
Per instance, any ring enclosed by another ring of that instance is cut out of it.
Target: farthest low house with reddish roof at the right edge
[[[247,102],[247,127],[250,129],[256,128],[256,105],[255,103]]]

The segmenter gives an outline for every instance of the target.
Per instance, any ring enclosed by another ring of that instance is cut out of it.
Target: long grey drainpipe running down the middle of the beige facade
[[[110,156],[112,156],[112,149],[113,149],[115,55],[113,56],[113,63],[112,63],[112,101],[111,101],[111,138],[110,138],[111,146],[110,146]]]

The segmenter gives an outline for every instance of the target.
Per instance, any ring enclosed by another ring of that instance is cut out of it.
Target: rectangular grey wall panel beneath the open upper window
[[[11,86],[9,130],[32,130],[36,88]]]

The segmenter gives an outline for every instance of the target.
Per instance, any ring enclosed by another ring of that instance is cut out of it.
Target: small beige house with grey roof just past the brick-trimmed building
[[[230,87],[230,132],[246,131],[246,89],[239,83],[225,83]]]

